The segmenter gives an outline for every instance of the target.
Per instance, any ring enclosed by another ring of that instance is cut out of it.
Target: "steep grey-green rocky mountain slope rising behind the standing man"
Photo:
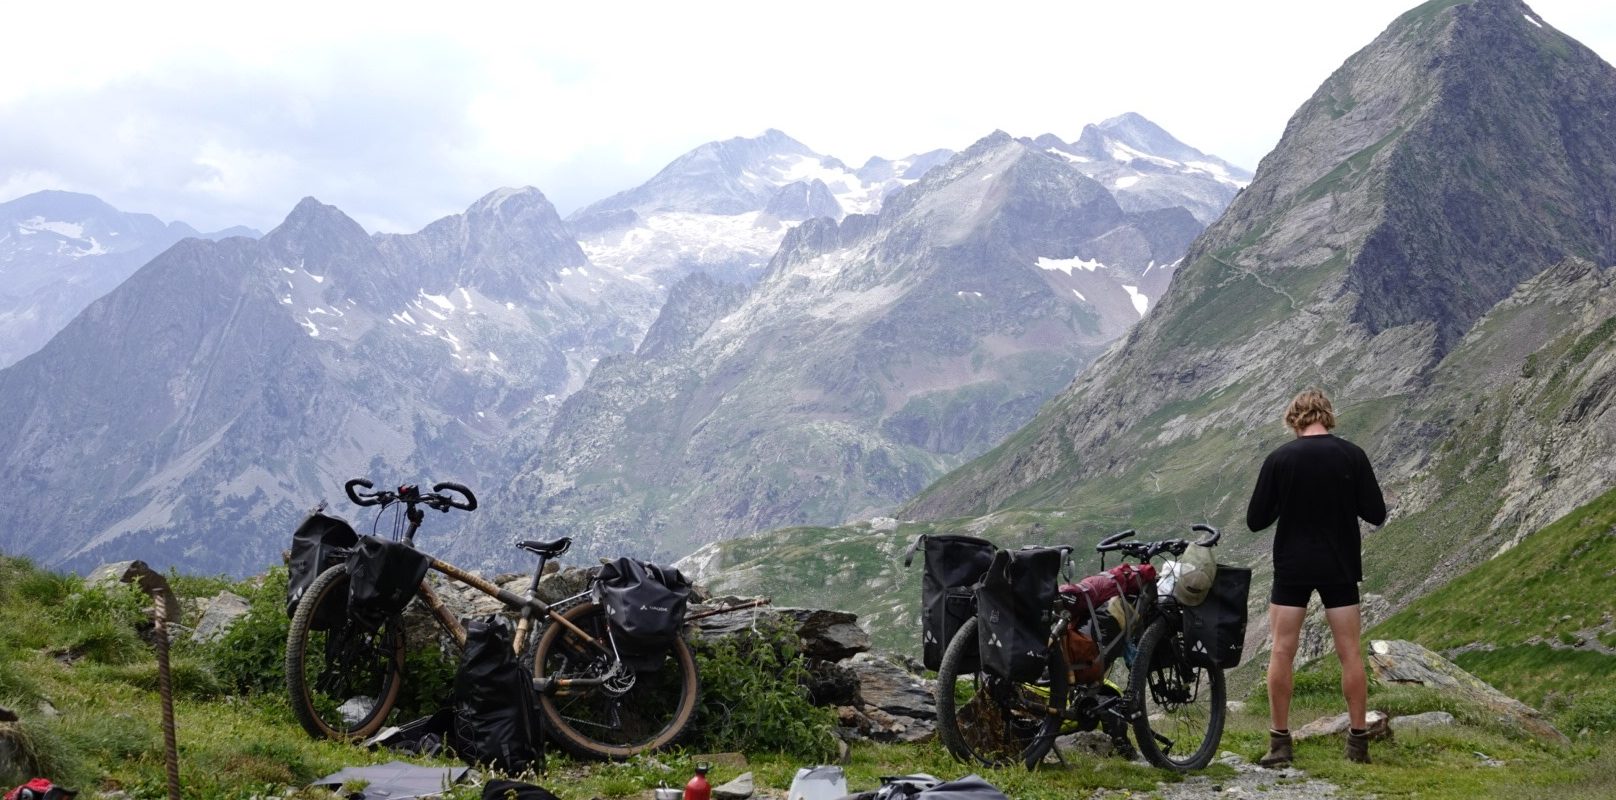
[[[1285,404],[1320,386],[1391,507],[1366,533],[1364,590],[1385,600],[1366,608],[1508,558],[1616,474],[1610,108],[1616,69],[1517,0],[1401,15],[1298,108],[1157,307],[1029,425],[907,503],[915,522],[897,537],[1081,551],[1113,530],[1210,522],[1220,561],[1265,577],[1269,535],[1244,532],[1246,499],[1288,438]],[[848,593],[839,574],[913,587],[894,538],[805,528],[687,564],[734,575],[721,590],[793,601],[766,564],[813,540],[826,564],[802,593]],[[855,611],[913,630],[892,596]],[[1254,616],[1249,635],[1264,627]]]

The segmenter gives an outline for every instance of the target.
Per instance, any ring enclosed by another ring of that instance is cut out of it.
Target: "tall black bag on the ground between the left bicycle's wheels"
[[[454,672],[449,747],[467,764],[506,774],[545,769],[533,674],[511,651],[511,625],[498,616],[465,622],[465,655]]]

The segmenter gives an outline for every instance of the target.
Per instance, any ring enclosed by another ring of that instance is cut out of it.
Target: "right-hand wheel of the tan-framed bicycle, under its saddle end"
[[[608,642],[601,606],[583,603],[562,616]],[[538,638],[533,677],[545,687],[538,706],[549,732],[583,758],[622,760],[667,747],[695,716],[700,690],[696,659],[682,637],[656,669],[633,669],[559,622]]]

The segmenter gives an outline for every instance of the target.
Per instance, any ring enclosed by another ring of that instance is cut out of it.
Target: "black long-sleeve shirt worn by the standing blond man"
[[[1246,525],[1273,532],[1275,583],[1357,583],[1364,558],[1357,520],[1380,525],[1387,501],[1364,451],[1325,433],[1296,436],[1262,462]]]

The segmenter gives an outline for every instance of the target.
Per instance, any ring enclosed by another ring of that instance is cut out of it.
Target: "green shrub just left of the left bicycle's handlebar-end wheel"
[[[207,659],[226,687],[242,692],[286,688],[286,567],[273,567],[255,585],[238,588],[247,598],[242,614],[213,645]]]

